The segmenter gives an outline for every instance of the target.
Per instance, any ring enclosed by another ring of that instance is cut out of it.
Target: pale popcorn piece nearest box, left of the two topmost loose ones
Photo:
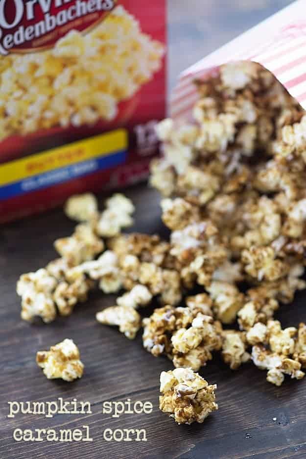
[[[66,215],[77,222],[89,222],[98,211],[98,203],[92,193],[71,196],[64,207]]]

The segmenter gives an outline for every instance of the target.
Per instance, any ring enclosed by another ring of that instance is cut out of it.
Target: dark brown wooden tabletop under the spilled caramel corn
[[[137,206],[134,229],[166,234],[160,221],[159,197],[145,185],[128,190]],[[68,318],[30,325],[20,319],[15,284],[21,273],[36,270],[56,257],[55,238],[73,230],[61,210],[27,218],[0,229],[0,458],[1,459],[284,459],[306,457],[306,380],[286,378],[282,387],[265,381],[252,364],[231,371],[219,358],[200,371],[216,383],[219,410],[201,425],[178,426],[158,409],[159,375],[172,368],[164,357],[153,357],[116,328],[95,321],[95,312],[114,304],[114,296],[93,294]],[[306,294],[277,314],[284,326],[306,320]],[[150,309],[145,309],[146,314]],[[35,363],[38,350],[70,337],[79,346],[84,376],[73,383],[50,381]],[[93,414],[17,414],[8,419],[8,401],[89,401]],[[102,414],[103,401],[150,401],[151,414]],[[276,420],[273,420],[276,418]],[[94,441],[15,442],[13,430],[73,429],[88,425]],[[141,429],[146,442],[107,442],[103,431]]]

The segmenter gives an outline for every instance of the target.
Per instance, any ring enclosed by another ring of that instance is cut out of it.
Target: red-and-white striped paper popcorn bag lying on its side
[[[298,0],[185,70],[171,96],[170,116],[178,122],[190,119],[198,100],[193,81],[217,76],[220,65],[241,60],[265,67],[306,108],[304,12],[305,1]]]

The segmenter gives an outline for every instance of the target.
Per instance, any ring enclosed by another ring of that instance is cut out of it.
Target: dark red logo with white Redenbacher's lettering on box
[[[0,0],[0,54],[50,48],[69,30],[87,30],[116,0]]]

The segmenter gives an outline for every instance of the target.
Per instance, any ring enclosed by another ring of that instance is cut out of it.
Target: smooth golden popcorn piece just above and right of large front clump
[[[208,292],[213,301],[213,311],[223,324],[234,322],[239,309],[243,306],[243,294],[232,284],[213,281]]]

